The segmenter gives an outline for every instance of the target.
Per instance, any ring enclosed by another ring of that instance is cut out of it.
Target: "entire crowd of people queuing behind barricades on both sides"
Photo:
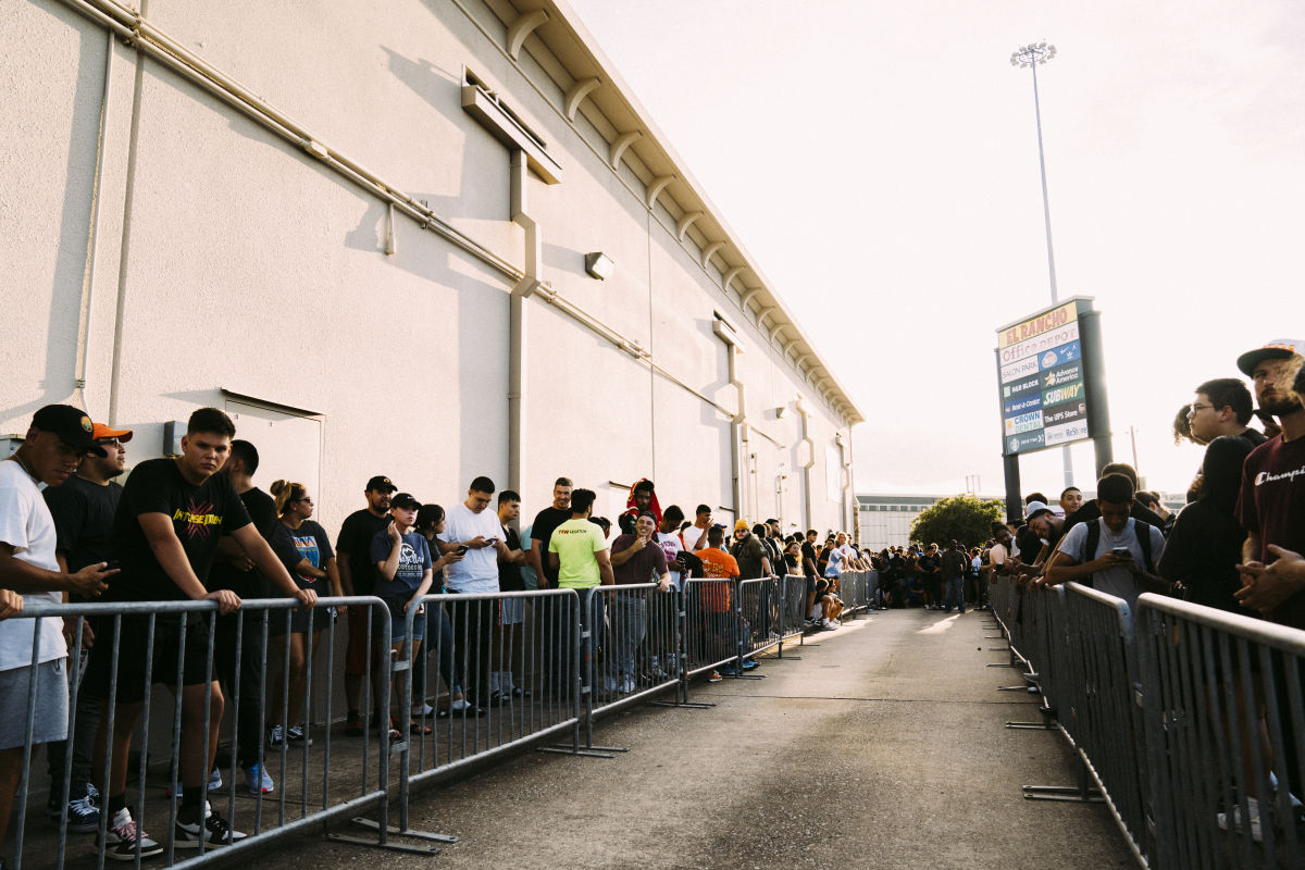
[[[874,608],[963,613],[967,604],[988,607],[987,586],[1002,578],[1028,590],[1074,580],[1130,604],[1141,592],[1155,591],[1305,629],[1302,353],[1298,342],[1272,342],[1238,357],[1254,383],[1261,419],[1275,421],[1268,432],[1250,425],[1255,410],[1241,380],[1216,378],[1195,387],[1184,437],[1205,445],[1206,453],[1181,511],[1171,514],[1155,493],[1139,490],[1131,467],[1116,463],[1103,470],[1092,500],[1084,501],[1073,487],[1056,506],[1031,493],[1023,522],[1014,528],[994,523],[984,547],[950,541],[945,548],[912,544],[880,553],[860,549],[842,531],[784,535],[775,519],[740,519],[728,528],[715,522],[709,505],[697,505],[690,519],[679,505],[663,509],[647,479],[630,488],[615,524],[594,517],[595,493],[566,477],[555,481],[551,503],[522,524],[521,496],[496,490],[488,477],[475,477],[465,498],[445,507],[377,475],[333,543],[313,519],[313,493],[303,483],[277,480],[270,492],[254,484],[257,447],[236,440],[231,420],[217,408],[191,416],[179,455],[138,463],[120,485],[116,477],[125,470],[132,432],[95,424],[70,406],[47,406],[35,413],[10,460],[0,463],[0,841],[30,715],[31,742],[48,747],[51,818],[74,832],[98,831],[103,818],[100,848],[108,858],[163,852],[132,818],[128,758],[150,689],[146,674],[175,682],[177,661],[181,781],[172,843],[185,848],[241,839],[205,801],[206,783],[218,775],[214,753],[227,694],[240,686],[234,751],[245,787],[270,793],[275,783],[258,762],[260,742],[311,740],[300,703],[304,677],[334,616],[316,607],[318,595],[377,596],[385,603],[384,609],[343,608],[345,733],[352,736],[364,733],[360,707],[368,682],[375,689],[392,678],[389,656],[373,648],[377,637],[388,635],[399,657],[412,655],[422,669],[415,686],[427,686],[422,644],[438,650],[435,659],[448,702],[437,715],[480,715],[531,690],[522,685],[519,661],[496,652],[521,648],[519,597],[489,599],[492,607],[468,608],[461,618],[437,607],[414,616],[410,610],[428,593],[619,587],[611,596],[595,595],[582,614],[589,623],[581,652],[585,667],[594,668],[586,680],[607,697],[664,676],[671,644],[664,627],[656,627],[660,605],[652,593],[684,588],[689,579],[702,580],[692,607],[703,614],[705,637],[733,630],[728,592],[713,588],[726,586],[720,580],[803,578],[806,627],[835,630],[843,609],[839,578],[872,569],[880,578]],[[288,663],[291,691],[286,720],[264,730],[260,723],[271,711],[264,710],[264,674],[252,646],[258,633],[238,630],[234,616],[243,599],[269,596],[292,597],[298,607],[268,621],[277,661]],[[29,603],[64,600],[119,603],[124,614],[120,622],[108,617],[65,625],[9,618]],[[217,603],[211,674],[207,633],[200,630],[204,614],[159,620],[153,639],[146,630],[151,605],[175,600]],[[753,630],[773,627],[767,613],[774,605],[756,605],[760,625]],[[604,614],[604,608],[612,612]],[[607,623],[613,629],[604,638]],[[68,661],[70,648],[85,661]],[[600,648],[607,664],[598,669]],[[556,677],[560,665],[549,667]],[[726,665],[735,667],[756,663]],[[72,734],[69,672],[85,674]],[[35,694],[33,682],[40,686]],[[559,690],[556,680],[552,689]],[[371,711],[372,720],[384,721],[395,737],[425,732],[423,719],[436,712],[428,697],[408,698],[398,682],[390,694],[392,710]],[[1289,734],[1287,751],[1298,753],[1300,743],[1298,734]],[[102,767],[95,760],[106,757],[108,779],[97,784],[93,770]],[[63,775],[65,768],[70,777]],[[1295,755],[1288,768],[1301,770]],[[1289,785],[1305,793],[1300,783]],[[1258,824],[1254,802],[1251,807],[1246,823]]]

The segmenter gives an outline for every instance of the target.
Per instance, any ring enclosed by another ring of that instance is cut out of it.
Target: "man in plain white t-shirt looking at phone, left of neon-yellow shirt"
[[[476,477],[467,489],[466,501],[450,507],[445,517],[444,532],[437,539],[440,550],[449,553],[467,548],[461,562],[445,569],[449,592],[499,591],[499,560],[508,558],[508,548],[502,541],[499,513],[489,510],[493,490],[492,480]],[[497,603],[493,600],[459,601],[449,614],[457,668],[468,693],[466,700],[476,707],[502,704],[509,699],[501,691],[489,694],[489,644],[496,614]]]

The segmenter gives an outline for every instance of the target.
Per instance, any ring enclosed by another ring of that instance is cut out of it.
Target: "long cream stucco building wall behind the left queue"
[[[286,470],[309,477],[328,528],[373,473],[445,503],[478,473],[506,485],[510,292],[526,269],[525,232],[512,222],[510,151],[462,108],[466,67],[565,171],[561,184],[531,175],[526,185],[540,278],[566,303],[525,303],[527,513],[557,475],[596,489],[602,510],[651,476],[663,503],[690,513],[705,501],[754,522],[783,514],[791,528],[850,524],[850,505],[825,484],[850,417],[739,309],[719,266],[699,258],[705,237],[679,237],[677,206],[647,205],[647,167],[609,166],[604,119],[566,119],[566,82],[555,81],[565,77],[539,37],[518,61],[504,52],[509,4],[142,8],[485,256],[402,213],[392,224],[373,192],[59,0],[12,5],[16,48],[0,53],[0,189],[16,193],[0,200],[10,278],[0,432],[23,432],[42,404],[85,402],[94,419],[136,430],[134,463],[163,451],[166,421],[227,407],[241,415],[240,436],[271,445],[261,483]],[[616,261],[611,279],[585,274],[590,250]],[[718,314],[744,346],[741,503],[739,398],[713,334]]]

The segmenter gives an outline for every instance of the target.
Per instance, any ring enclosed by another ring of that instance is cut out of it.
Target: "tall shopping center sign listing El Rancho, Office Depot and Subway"
[[[1005,455],[1092,437],[1084,353],[1094,348],[1079,320],[1088,312],[1090,300],[1074,299],[997,330]]]

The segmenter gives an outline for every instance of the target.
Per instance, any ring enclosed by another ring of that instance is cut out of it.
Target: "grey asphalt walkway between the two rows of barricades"
[[[1035,721],[990,617],[890,610],[809,638],[765,680],[694,683],[707,710],[603,720],[612,759],[527,753],[412,802],[410,826],[453,833],[438,857],[324,840],[260,866],[320,867],[1131,867],[1101,805],[1030,802],[1071,784]]]

